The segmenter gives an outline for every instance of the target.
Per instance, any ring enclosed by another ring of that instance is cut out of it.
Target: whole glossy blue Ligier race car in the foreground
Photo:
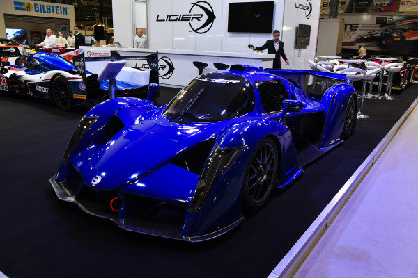
[[[59,199],[122,229],[208,240],[348,138],[356,112],[342,74],[232,65],[162,107],[129,97],[95,106],[50,182]]]

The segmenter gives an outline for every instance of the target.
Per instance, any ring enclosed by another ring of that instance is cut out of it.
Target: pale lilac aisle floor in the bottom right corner
[[[417,277],[418,107],[294,277]]]

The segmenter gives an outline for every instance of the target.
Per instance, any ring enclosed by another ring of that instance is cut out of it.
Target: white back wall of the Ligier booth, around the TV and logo
[[[221,51],[234,53],[251,53],[248,44],[261,46],[266,40],[272,39],[272,33],[229,33],[228,8],[231,2],[244,0],[206,0],[215,13],[215,20],[207,33],[199,34],[192,31],[187,21],[157,22],[166,19],[167,15],[184,15],[202,13],[202,20],[206,14],[198,7],[192,5],[197,1],[184,0],[152,0],[148,1],[148,41],[153,49],[181,49],[196,51]],[[249,0],[247,0],[249,1]],[[252,0],[265,1],[265,0]],[[115,40],[122,42],[123,46],[130,46],[133,42],[133,12],[134,0],[113,0]],[[297,8],[299,5],[309,6],[312,12],[306,17],[306,10]],[[202,3],[202,5],[206,5]],[[131,10],[130,10],[131,9]],[[281,40],[284,42],[284,51],[290,65],[284,68],[309,68],[307,59],[313,60],[316,52],[316,38],[318,33],[320,0],[274,0],[274,18],[272,29],[281,31]],[[174,17],[173,17],[174,18]],[[129,22],[131,20],[131,22]],[[245,19],[243,19],[245,20]],[[194,20],[193,28],[201,26],[202,22]],[[306,49],[295,49],[295,27],[298,24],[311,25],[311,41]],[[127,31],[127,29],[131,29]],[[125,41],[127,43],[125,43]],[[265,51],[267,53],[267,51]]]

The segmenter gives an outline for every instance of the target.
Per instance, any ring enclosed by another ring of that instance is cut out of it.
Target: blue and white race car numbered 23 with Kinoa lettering
[[[148,90],[148,85],[155,76],[150,72],[123,67],[116,77],[116,95],[132,95],[145,99],[157,97],[157,85],[153,86],[153,90]],[[68,110],[74,104],[107,97],[108,83],[97,79],[98,74],[86,71],[86,79],[83,80],[70,61],[56,54],[39,52],[31,54],[23,66],[2,63],[0,92],[50,99],[62,110]]]

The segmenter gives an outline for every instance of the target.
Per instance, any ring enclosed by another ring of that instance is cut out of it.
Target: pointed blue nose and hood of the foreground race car
[[[169,122],[161,110],[149,111],[135,120],[127,120],[130,115],[125,114],[126,108],[117,111],[116,116],[125,121],[125,127],[106,144],[91,145],[70,159],[84,182],[95,190],[120,190],[136,184],[131,190],[137,195],[181,202],[191,199],[199,175],[170,162],[188,147],[213,138],[228,124],[217,122],[182,126]],[[166,180],[167,174],[173,174],[174,178]],[[100,176],[101,180],[93,185],[96,176]],[[148,176],[152,176],[153,180]],[[165,190],[173,186],[164,182],[175,183],[176,176],[182,176],[179,179],[185,177],[186,181],[181,181],[176,188],[178,191],[173,190],[173,195],[169,196]],[[154,188],[149,188],[151,183]]]

